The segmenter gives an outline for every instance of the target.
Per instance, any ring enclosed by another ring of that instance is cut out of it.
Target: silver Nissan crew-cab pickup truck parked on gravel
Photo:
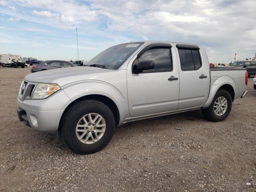
[[[199,45],[130,42],[104,50],[87,66],[27,75],[17,111],[26,125],[90,154],[129,121],[198,109],[222,121],[232,101],[246,95],[247,81],[244,68],[209,68]]]

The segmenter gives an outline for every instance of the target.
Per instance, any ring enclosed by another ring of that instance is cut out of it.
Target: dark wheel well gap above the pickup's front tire
[[[69,108],[72,104],[74,104],[74,103],[76,103],[76,102],[79,102],[79,101],[81,101],[81,100],[85,100],[85,99],[96,100],[96,101],[99,101],[99,102],[104,103],[106,106],[108,106],[108,107],[110,108],[110,110],[111,110],[112,113],[114,114],[116,126],[119,124],[119,121],[120,121],[120,114],[119,114],[119,110],[118,110],[118,108],[117,108],[115,102],[114,102],[112,99],[110,99],[110,98],[108,98],[108,97],[106,97],[106,96],[97,95],[97,94],[95,94],[95,95],[86,95],[86,96],[83,96],[83,97],[80,97],[80,98],[74,100],[72,103],[70,103],[70,104],[68,105],[68,107],[66,107],[66,109],[64,110],[64,112],[63,112],[63,114],[62,114],[62,117],[63,117],[64,113],[66,112],[66,110],[68,110],[68,108]],[[62,117],[61,117],[61,119],[62,119]]]

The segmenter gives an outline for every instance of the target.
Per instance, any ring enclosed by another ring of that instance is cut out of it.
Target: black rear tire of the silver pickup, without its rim
[[[224,112],[224,114],[222,114],[220,116],[216,115],[214,112],[214,103],[215,103],[216,99],[219,97],[226,98],[226,100],[228,102],[226,112]],[[232,108],[232,98],[231,98],[229,92],[227,92],[226,90],[220,89],[216,92],[210,106],[208,108],[202,108],[202,113],[206,119],[213,121],[213,122],[219,122],[219,121],[225,120],[228,117],[228,115],[231,111],[231,108]]]

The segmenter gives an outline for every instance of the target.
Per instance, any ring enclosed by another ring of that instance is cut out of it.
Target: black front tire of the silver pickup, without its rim
[[[100,114],[106,122],[106,130],[97,142],[85,144],[76,136],[76,125],[80,118],[89,113]],[[95,100],[82,100],[70,106],[62,117],[60,135],[68,148],[78,154],[91,154],[102,150],[112,139],[115,118],[108,106]]]

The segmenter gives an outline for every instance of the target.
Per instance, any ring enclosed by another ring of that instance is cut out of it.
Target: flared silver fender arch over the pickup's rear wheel
[[[235,84],[234,80],[232,78],[230,78],[229,76],[221,76],[219,78],[216,76],[213,76],[212,80],[213,80],[213,82],[210,87],[210,93],[209,93],[208,99],[205,102],[205,104],[202,106],[202,108],[207,108],[208,106],[210,106],[216,92],[223,85],[228,84],[228,85],[232,86],[232,88],[234,89],[234,92],[236,94],[236,84]]]

